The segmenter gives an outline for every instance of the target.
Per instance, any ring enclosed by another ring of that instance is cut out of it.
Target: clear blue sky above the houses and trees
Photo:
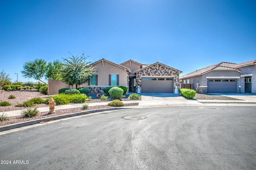
[[[0,70],[90,55],[156,61],[187,74],[256,59],[255,0],[0,0]]]

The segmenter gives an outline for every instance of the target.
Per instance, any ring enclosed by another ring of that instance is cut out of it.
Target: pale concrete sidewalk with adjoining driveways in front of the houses
[[[226,95],[233,98],[239,98],[242,100],[193,100],[186,99],[178,94],[154,94],[154,93],[142,93],[140,94],[142,100],[122,101],[124,104],[138,103],[138,106],[126,106],[125,108],[145,108],[145,107],[163,107],[163,106],[206,106],[206,105],[248,105],[245,102],[256,102],[256,95]],[[218,94],[220,95],[220,94]],[[218,102],[218,104],[202,104],[200,102]],[[226,104],[227,102],[237,102],[238,104]],[[109,102],[95,102],[89,103],[88,106],[100,106],[107,105]],[[223,104],[221,104],[223,103]],[[70,109],[82,107],[83,104],[69,104],[56,106],[55,110]],[[250,106],[256,106],[256,104],[249,104]],[[23,109],[26,110],[26,109]],[[23,110],[6,111],[8,117],[22,115]],[[49,111],[49,107],[39,107],[39,112]],[[3,112],[0,112],[2,114]]]

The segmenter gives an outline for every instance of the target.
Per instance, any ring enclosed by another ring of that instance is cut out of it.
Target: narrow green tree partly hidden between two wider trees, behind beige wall
[[[49,62],[47,64],[47,72],[45,78],[52,80],[61,80],[61,69],[63,67],[63,63],[59,60],[54,60],[53,62]]]

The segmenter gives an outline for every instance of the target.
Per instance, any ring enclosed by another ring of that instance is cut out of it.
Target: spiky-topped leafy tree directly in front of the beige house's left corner
[[[62,81],[69,86],[74,84],[77,86],[88,82],[88,78],[92,76],[95,72],[94,67],[90,66],[91,62],[86,61],[89,57],[85,57],[84,53],[82,56],[73,56],[63,59],[63,68],[62,68]]]

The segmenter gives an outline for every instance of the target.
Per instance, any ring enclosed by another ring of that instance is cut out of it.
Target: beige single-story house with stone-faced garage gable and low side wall
[[[181,71],[158,62],[141,64],[129,60],[116,64],[101,59],[90,66],[94,67],[96,72],[80,87],[89,88],[91,93],[103,93],[103,88],[108,86],[125,86],[128,92],[142,93],[173,93],[174,88],[179,87]],[[58,94],[60,88],[74,87],[59,80],[48,80],[48,94]]]

